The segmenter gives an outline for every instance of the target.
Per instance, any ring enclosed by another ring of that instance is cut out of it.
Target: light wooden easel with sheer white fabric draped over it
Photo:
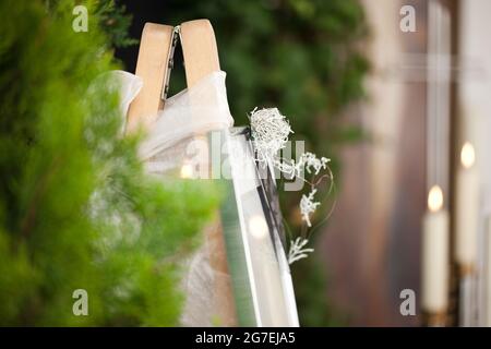
[[[169,61],[169,57],[172,56],[176,35],[180,35],[181,39],[188,87],[192,87],[209,73],[219,71],[218,50],[209,21],[184,22],[180,25],[179,32],[169,25],[146,23],[142,33],[135,72],[143,80],[143,87],[130,105],[127,132],[131,133],[140,127],[148,127],[157,111],[164,109],[166,85],[172,67],[172,60]],[[213,269],[228,275],[225,241],[218,213],[217,219],[205,230],[205,234]],[[216,278],[214,288],[218,300],[216,316],[219,318],[219,325],[237,325],[230,278]]]

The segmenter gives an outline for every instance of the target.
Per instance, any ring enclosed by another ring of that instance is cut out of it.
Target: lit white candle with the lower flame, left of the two
[[[422,308],[432,314],[446,311],[448,303],[448,214],[438,185],[428,194],[422,231]]]

